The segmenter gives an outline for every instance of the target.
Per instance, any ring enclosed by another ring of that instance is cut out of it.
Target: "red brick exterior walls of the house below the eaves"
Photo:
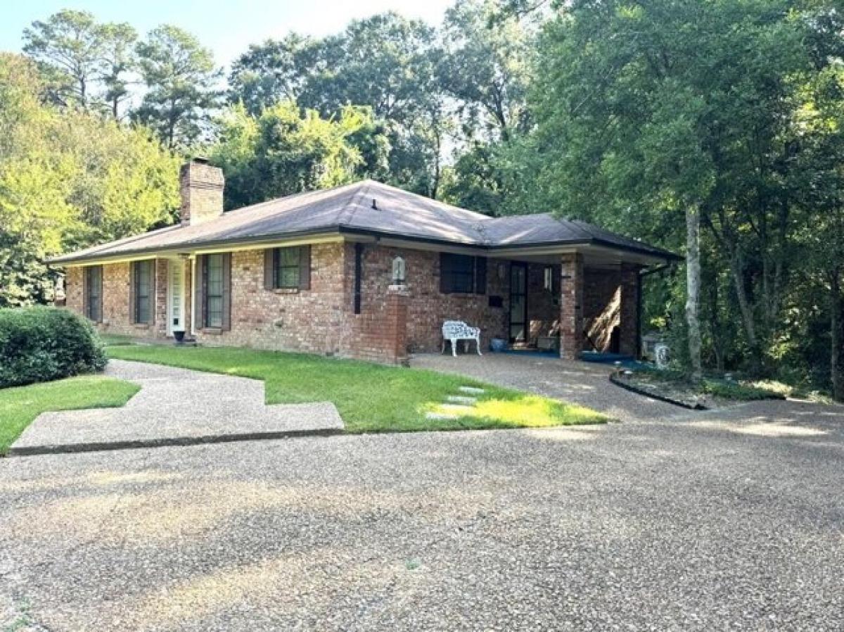
[[[406,264],[403,296],[390,290],[392,260],[400,255]],[[574,261],[578,263],[575,265]],[[155,322],[151,327],[130,322],[129,264],[103,267],[103,331],[163,337],[166,330],[167,266],[158,260],[155,268]],[[186,323],[193,308],[191,264],[185,262]],[[436,252],[388,248],[367,244],[364,250],[361,287],[361,313],[354,305],[354,244],[324,243],[311,247],[311,287],[309,290],[265,290],[263,251],[249,250],[231,255],[231,329],[222,333],[203,331],[195,324],[197,340],[205,345],[251,346],[264,349],[305,351],[320,355],[359,357],[379,362],[401,361],[405,351],[439,351],[444,320],[464,320],[481,328],[487,348],[493,336],[507,337],[510,264],[487,260],[486,294],[442,294],[440,255]],[[636,345],[635,267],[620,271],[586,270],[579,280],[562,280],[564,296],[572,300],[554,304],[554,295],[544,289],[544,264],[528,267],[528,318],[531,335],[547,335],[558,321],[576,315],[587,324],[609,313],[602,330],[595,335],[609,345],[609,330],[621,323],[622,351]],[[555,275],[563,270],[582,270],[582,259],[569,259],[554,266]],[[82,268],[68,269],[66,279],[68,308],[81,313]],[[566,272],[568,274],[569,272]],[[621,283],[624,279],[625,282]],[[619,289],[619,284],[621,288]],[[490,308],[490,296],[501,297],[500,308]],[[580,308],[574,313],[574,297]],[[615,301],[614,297],[624,300]],[[613,307],[614,304],[614,307]],[[609,309],[609,312],[608,312]],[[571,313],[570,313],[571,312]],[[405,327],[397,325],[401,321]],[[189,334],[189,332],[188,332]],[[564,335],[565,341],[565,335]],[[573,346],[570,347],[570,350]],[[631,351],[627,351],[630,349]],[[565,350],[564,350],[565,351]]]

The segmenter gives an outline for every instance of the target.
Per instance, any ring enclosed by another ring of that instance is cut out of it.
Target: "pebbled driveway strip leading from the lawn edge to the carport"
[[[641,422],[684,415],[679,406],[650,400],[609,381],[608,365],[571,362],[555,357],[487,353],[452,357],[433,353],[411,358],[410,366],[457,373],[492,384],[573,401],[623,422]]]

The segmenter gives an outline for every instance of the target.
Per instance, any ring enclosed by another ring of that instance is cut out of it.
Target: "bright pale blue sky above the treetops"
[[[453,0],[0,0],[0,50],[19,52],[21,33],[62,8],[84,9],[100,21],[128,22],[145,33],[162,23],[191,31],[228,64],[252,42],[289,30],[327,35],[353,18],[394,10],[438,24]]]

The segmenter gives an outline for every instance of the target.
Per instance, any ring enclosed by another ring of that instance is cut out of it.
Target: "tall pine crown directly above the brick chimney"
[[[215,84],[221,73],[211,52],[172,25],[150,31],[137,52],[147,92],[135,119],[153,128],[171,149],[199,139],[218,98]]]

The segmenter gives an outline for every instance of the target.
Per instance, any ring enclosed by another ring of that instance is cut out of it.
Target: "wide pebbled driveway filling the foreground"
[[[0,629],[841,630],[842,411],[0,460]]]

